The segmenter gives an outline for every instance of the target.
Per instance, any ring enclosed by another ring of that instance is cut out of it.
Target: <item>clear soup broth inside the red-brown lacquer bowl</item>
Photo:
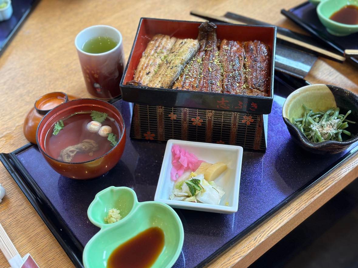
[[[88,130],[87,124],[93,121],[90,113],[91,111],[62,119],[63,128],[56,135],[54,124],[45,137],[45,152],[63,162],[79,163],[91,161],[110,151],[114,144],[108,137],[102,137],[98,131]],[[121,137],[118,123],[107,117],[101,124],[112,128],[111,133],[116,135],[115,141],[118,142]]]

